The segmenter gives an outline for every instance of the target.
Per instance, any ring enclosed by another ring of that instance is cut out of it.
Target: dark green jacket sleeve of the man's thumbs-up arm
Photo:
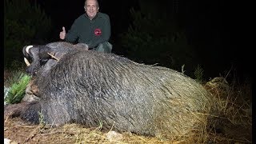
[[[78,19],[74,21],[70,30],[66,34],[65,40],[67,42],[75,42],[78,38]]]

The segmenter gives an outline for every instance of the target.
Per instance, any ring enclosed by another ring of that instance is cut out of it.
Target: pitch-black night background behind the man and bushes
[[[37,2],[53,22],[52,39],[56,41],[59,40],[58,34],[62,26],[69,30],[74,19],[84,13],[84,0],[38,0]],[[130,8],[140,9],[138,2],[136,0],[99,0],[98,2],[99,11],[110,16],[110,42],[114,45],[113,52],[122,55],[122,49],[119,49],[118,44],[115,43],[119,41],[118,34],[126,32],[132,21]],[[206,78],[217,77],[230,69],[236,71],[241,79],[252,78],[251,3],[221,0],[155,2],[160,6],[161,3],[167,3],[170,5],[169,10],[175,10],[178,25],[184,27],[190,46],[194,46],[200,54]]]

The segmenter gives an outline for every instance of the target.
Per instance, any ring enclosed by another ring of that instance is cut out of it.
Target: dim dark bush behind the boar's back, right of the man
[[[178,71],[186,65],[186,72],[192,74],[198,65],[197,54],[188,45],[185,32],[178,27],[174,14],[160,13],[162,5],[147,9],[150,4],[142,4],[141,10],[130,10],[133,22],[127,33],[121,35],[127,57]]]

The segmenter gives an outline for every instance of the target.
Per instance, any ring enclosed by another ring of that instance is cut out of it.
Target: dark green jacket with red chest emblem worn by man
[[[110,17],[107,14],[98,12],[90,20],[87,14],[79,16],[66,34],[67,42],[86,43],[89,48],[98,46],[99,43],[108,42],[110,39]]]

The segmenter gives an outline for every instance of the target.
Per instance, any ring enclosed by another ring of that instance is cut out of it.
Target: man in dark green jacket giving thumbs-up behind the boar
[[[67,42],[78,40],[78,43],[85,43],[89,50],[111,53],[109,16],[98,12],[97,0],[86,0],[84,8],[86,14],[74,21],[68,33],[63,26],[59,38]]]

